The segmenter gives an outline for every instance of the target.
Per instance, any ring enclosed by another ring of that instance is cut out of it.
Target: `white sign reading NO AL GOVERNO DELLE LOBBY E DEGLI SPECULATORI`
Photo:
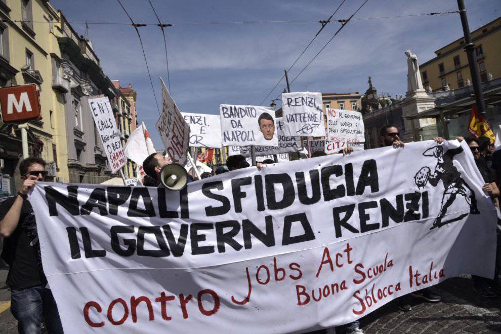
[[[327,135],[325,153],[338,153],[347,146],[363,150],[365,127],[362,113],[342,109],[327,109]]]

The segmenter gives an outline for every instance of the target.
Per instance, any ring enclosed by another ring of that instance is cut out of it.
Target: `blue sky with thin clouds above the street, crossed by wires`
[[[168,1],[151,0],[167,27],[171,95],[183,112],[219,114],[219,104],[259,104],[320,28],[317,22],[260,24],[193,24],[241,21],[326,20],[335,1]],[[121,0],[133,20],[156,23],[148,0]],[[334,19],[348,18],[362,0],[347,0]],[[52,0],[70,22],[129,22],[115,0]],[[470,29],[501,15],[498,0],[465,0]],[[354,18],[370,18],[457,10],[456,0],[369,0]],[[73,24],[83,34],[85,25]],[[289,79],[311,60],[340,23],[331,22],[290,70]],[[157,98],[158,76],[167,83],[161,30],[139,28]],[[463,34],[458,14],[413,16],[350,22],[320,53],[291,91],[346,93],[367,89],[372,77],[378,92],[404,95],[409,49],[423,63],[434,51]],[[144,121],[156,149],[162,149],[155,123],[158,112],[139,41],[132,26],[89,25],[89,36],[104,72],[137,92],[138,120]],[[263,105],[283,90],[282,82]],[[160,100],[158,103],[160,104]],[[280,103],[277,101],[277,104]]]

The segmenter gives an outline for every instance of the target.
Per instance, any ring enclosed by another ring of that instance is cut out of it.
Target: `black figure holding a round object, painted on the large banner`
[[[435,171],[432,173],[429,167],[421,168],[414,176],[414,182],[417,187],[424,187],[427,182],[433,187],[436,187],[440,180],[444,183],[444,194],[442,196],[442,205],[440,207],[440,212],[433,222],[433,226],[430,230],[434,228],[442,227],[451,222],[461,220],[468,215],[464,213],[458,217],[452,218],[450,220],[442,221],[447,213],[447,209],[455,201],[457,195],[461,195],[466,199],[468,205],[470,205],[471,214],[479,214],[477,208],[477,200],[475,198],[475,192],[470,188],[470,185],[461,177],[460,172],[452,163],[452,157],[456,154],[463,152],[463,147],[457,147],[456,149],[447,150],[444,152],[443,145],[436,145],[430,147],[426,150],[423,155],[425,157],[435,157],[437,158],[437,166],[435,166]]]

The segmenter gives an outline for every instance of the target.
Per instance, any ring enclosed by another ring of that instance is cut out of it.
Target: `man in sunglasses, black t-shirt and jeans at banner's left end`
[[[47,175],[45,161],[27,158],[19,165],[23,185],[16,197],[0,204],[2,258],[9,264],[11,312],[20,333],[39,333],[42,315],[50,333],[62,333],[61,320],[41,266],[40,246],[28,190]]]

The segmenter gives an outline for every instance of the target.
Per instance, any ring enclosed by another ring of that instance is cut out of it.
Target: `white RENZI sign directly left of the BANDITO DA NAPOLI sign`
[[[221,120],[219,115],[181,113],[190,126],[191,147],[221,149]]]

